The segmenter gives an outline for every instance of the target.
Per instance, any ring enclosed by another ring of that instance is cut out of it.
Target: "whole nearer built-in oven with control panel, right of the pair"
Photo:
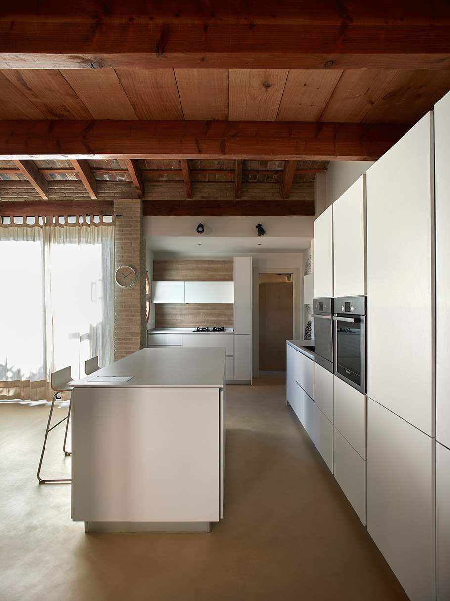
[[[367,373],[367,296],[334,299],[334,373],[365,394]]]

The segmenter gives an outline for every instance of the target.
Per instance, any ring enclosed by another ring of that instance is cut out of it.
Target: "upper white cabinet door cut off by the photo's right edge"
[[[434,106],[436,440],[450,447],[450,93]]]

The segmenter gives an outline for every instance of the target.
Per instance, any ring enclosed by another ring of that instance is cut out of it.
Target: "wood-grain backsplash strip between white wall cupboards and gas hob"
[[[156,328],[196,328],[197,326],[233,328],[233,324],[232,304],[155,305]]]

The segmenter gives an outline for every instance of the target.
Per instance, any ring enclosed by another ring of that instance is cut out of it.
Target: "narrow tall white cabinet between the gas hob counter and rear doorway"
[[[234,258],[235,380],[251,382],[251,257]]]

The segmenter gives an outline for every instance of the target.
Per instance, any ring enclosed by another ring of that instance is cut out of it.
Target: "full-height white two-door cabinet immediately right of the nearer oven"
[[[434,599],[434,173],[428,113],[367,172],[367,528]]]

